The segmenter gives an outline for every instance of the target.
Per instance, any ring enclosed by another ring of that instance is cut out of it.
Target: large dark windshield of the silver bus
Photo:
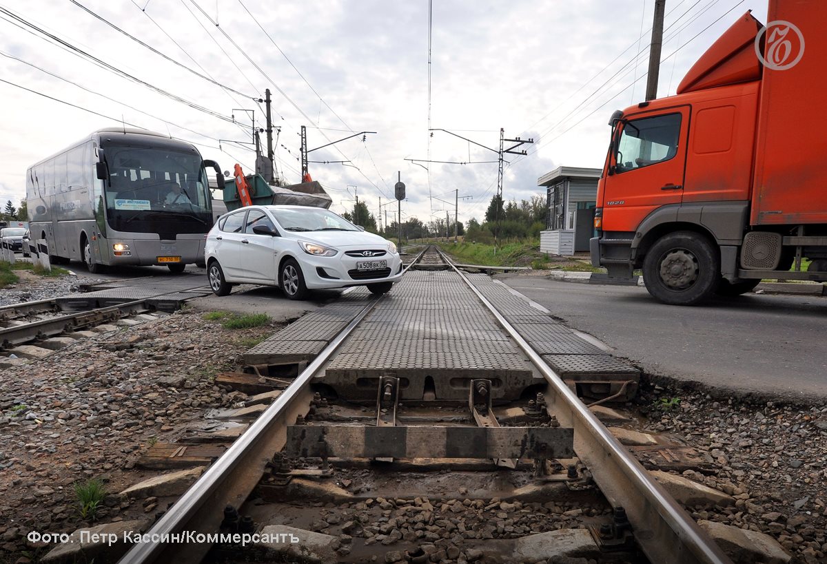
[[[156,232],[158,222],[173,220],[179,232],[209,230],[208,179],[197,153],[109,144],[105,155],[109,179],[103,190],[113,229]]]

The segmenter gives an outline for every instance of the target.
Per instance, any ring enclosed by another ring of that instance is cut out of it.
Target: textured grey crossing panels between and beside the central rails
[[[488,275],[467,276],[563,378],[638,375],[629,363],[578,337],[547,310],[504,284]],[[354,289],[261,342],[248,358],[318,354],[371,298],[366,289]],[[502,396],[519,394],[534,377],[516,343],[450,270],[410,270],[342,345],[325,370],[325,381],[354,386],[375,397],[378,378],[388,374],[406,379],[402,393],[408,397],[421,393],[428,386],[426,380],[433,378],[437,398],[440,394],[467,397],[467,388],[457,384],[457,378],[499,377],[502,386],[513,388],[495,390]]]

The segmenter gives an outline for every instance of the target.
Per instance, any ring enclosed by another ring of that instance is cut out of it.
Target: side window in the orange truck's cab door
[[[670,160],[677,154],[681,114],[642,117],[624,123],[617,153],[616,172],[635,170]]]

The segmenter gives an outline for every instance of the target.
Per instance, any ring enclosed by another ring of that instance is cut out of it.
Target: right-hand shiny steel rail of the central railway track
[[[434,247],[437,249],[437,247]],[[437,252],[485,304],[509,336],[532,361],[555,392],[549,409],[575,430],[575,452],[586,462],[609,502],[626,509],[634,537],[650,562],[732,564],[729,557],[692,520],[667,490],[600,423],[594,413],[548,366],[466,275],[439,249]],[[549,399],[547,399],[549,401]],[[552,405],[553,404],[553,405]]]

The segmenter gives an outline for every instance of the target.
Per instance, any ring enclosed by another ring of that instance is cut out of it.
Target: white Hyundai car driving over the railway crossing
[[[323,208],[249,206],[225,213],[204,247],[210,288],[279,286],[289,299],[311,289],[367,286],[385,294],[402,277],[392,241]]]

